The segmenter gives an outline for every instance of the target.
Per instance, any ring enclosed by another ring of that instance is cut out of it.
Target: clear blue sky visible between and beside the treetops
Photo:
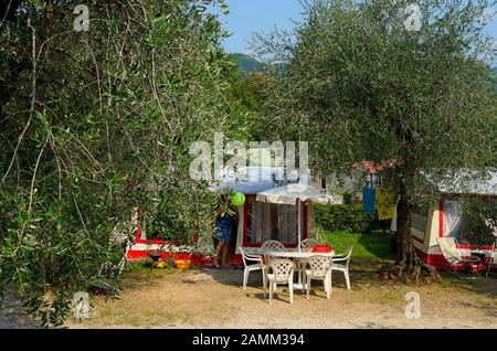
[[[271,31],[275,24],[290,30],[292,19],[302,20],[299,0],[226,0],[226,3],[230,14],[220,15],[220,20],[233,33],[223,44],[229,53],[248,53],[247,41],[253,32]],[[497,40],[497,17],[488,24],[487,32]]]

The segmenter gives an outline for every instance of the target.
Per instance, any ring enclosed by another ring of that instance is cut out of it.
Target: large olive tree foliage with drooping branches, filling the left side
[[[0,286],[45,325],[120,259],[109,238],[136,206],[182,243],[212,235],[215,194],[190,179],[189,147],[245,128],[212,2],[96,1],[88,32],[71,30],[78,1],[12,2],[2,20]]]

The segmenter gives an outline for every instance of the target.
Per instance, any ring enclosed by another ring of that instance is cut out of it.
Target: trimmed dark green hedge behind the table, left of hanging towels
[[[373,217],[360,204],[315,205],[316,223],[327,231],[364,233]]]

